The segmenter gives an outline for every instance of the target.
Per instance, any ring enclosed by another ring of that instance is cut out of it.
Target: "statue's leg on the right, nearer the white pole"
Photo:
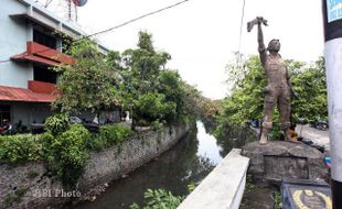
[[[284,88],[279,100],[278,100],[278,108],[280,112],[280,128],[284,131],[285,139],[291,140],[290,133],[290,113],[291,113],[291,97],[290,97],[290,89]]]

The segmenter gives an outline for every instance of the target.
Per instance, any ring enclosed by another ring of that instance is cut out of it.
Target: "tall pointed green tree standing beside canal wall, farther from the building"
[[[170,58],[168,53],[154,50],[152,35],[147,32],[139,33],[137,48],[121,55],[109,53],[109,65],[117,68],[122,78],[121,105],[132,112],[133,127],[151,125],[154,121],[183,122],[193,113],[194,108],[186,103],[188,96],[194,91],[189,91],[190,86],[178,72],[165,69]]]

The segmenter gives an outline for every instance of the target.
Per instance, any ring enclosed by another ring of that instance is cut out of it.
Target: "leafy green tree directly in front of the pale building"
[[[57,88],[58,97],[53,103],[63,112],[99,111],[117,106],[119,94],[116,74],[105,56],[90,40],[74,42],[68,54],[76,58],[74,65],[62,64]]]

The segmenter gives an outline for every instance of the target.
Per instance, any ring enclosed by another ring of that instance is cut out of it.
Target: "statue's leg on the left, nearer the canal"
[[[263,119],[263,127],[261,127],[261,133],[260,133],[260,139],[259,139],[260,144],[267,143],[268,132],[272,128],[272,114],[274,114],[274,109],[277,103],[276,101],[277,99],[275,97],[275,92],[270,91],[265,95],[265,102],[264,102],[265,116]]]

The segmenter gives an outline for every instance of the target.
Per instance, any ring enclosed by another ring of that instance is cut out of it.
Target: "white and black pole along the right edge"
[[[334,209],[342,208],[342,1],[322,0],[327,68],[331,191]]]

